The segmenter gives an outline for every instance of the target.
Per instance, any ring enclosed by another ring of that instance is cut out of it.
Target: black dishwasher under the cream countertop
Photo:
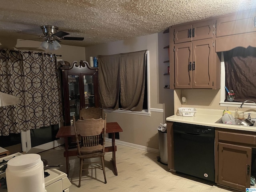
[[[214,182],[214,128],[175,122],[174,170]]]

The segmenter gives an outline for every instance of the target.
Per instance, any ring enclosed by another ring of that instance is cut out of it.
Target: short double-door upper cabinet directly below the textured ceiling
[[[215,20],[174,27],[174,44],[212,38]]]

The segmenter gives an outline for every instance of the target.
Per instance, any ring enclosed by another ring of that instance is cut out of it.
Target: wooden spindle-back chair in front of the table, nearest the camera
[[[104,120],[102,118],[99,119],[86,119],[86,120],[75,120],[75,116],[73,116],[74,121],[74,129],[76,134],[76,142],[77,142],[77,150],[78,150],[78,158],[80,159],[80,174],[79,174],[79,184],[78,187],[81,186],[81,177],[83,170],[89,170],[93,168],[83,168],[84,164],[92,164],[99,163],[98,162],[86,162],[84,163],[84,159],[89,158],[101,158],[102,170],[104,174],[105,184],[106,173],[105,173],[105,164],[104,164],[104,155],[105,155],[105,135],[106,135],[106,116],[104,115]],[[100,138],[102,136],[103,130],[103,142],[100,142]],[[81,137],[81,142],[79,142],[78,135]],[[98,167],[96,167],[98,168]]]

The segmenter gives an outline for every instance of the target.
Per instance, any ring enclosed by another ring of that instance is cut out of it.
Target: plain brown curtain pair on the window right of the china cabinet
[[[100,102],[106,108],[142,111],[146,50],[98,56]],[[119,93],[120,92],[120,93]]]

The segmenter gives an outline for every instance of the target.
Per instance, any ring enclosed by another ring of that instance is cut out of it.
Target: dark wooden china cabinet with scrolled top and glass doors
[[[72,116],[79,118],[85,107],[99,107],[98,67],[90,67],[86,61],[74,61],[71,66],[60,67],[65,126],[71,124]],[[71,120],[71,121],[70,121]]]

